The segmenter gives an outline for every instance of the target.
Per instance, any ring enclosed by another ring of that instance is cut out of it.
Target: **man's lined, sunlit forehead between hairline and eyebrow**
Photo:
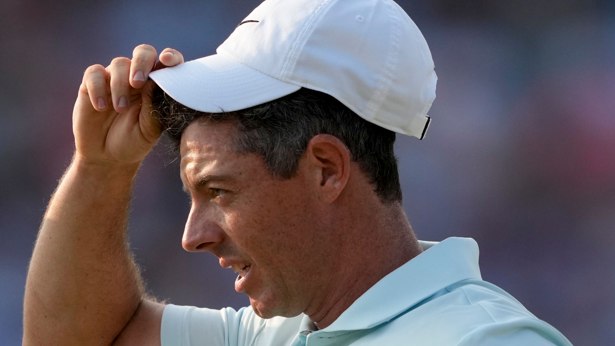
[[[226,166],[232,152],[232,139],[236,125],[229,121],[205,124],[194,121],[186,127],[181,135],[180,155],[182,175],[200,172],[208,167]]]

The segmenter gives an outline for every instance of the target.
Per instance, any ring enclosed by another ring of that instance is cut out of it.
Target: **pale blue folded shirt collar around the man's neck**
[[[370,329],[451,284],[466,279],[481,280],[478,244],[474,239],[452,237],[440,243],[419,243],[424,252],[371,286],[322,331]]]

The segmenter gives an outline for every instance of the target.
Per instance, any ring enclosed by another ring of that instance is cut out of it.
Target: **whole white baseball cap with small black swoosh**
[[[216,50],[149,74],[186,107],[237,111],[301,87],[423,139],[437,77],[427,42],[392,0],[266,0]]]

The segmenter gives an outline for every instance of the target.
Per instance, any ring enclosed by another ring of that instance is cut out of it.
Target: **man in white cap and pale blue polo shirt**
[[[28,272],[25,345],[569,345],[481,280],[472,239],[411,230],[393,143],[423,138],[436,77],[397,4],[267,0],[218,54],[154,63],[142,45],[85,71],[73,163]],[[192,199],[183,246],[237,272],[250,307],[144,294],[126,219],[162,129]]]

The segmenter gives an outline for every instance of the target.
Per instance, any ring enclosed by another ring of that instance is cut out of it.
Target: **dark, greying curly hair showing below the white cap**
[[[330,134],[346,145],[351,159],[367,174],[383,203],[402,201],[395,132],[366,121],[323,92],[302,88],[244,110],[204,113],[185,107],[156,86],[152,104],[176,153],[181,134],[192,121],[204,117],[232,121],[239,130],[234,150],[263,156],[272,175],[290,179],[309,140],[317,134]]]

